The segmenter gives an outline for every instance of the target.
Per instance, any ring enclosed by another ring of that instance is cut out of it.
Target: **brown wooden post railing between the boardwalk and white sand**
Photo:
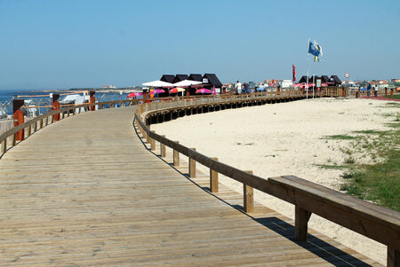
[[[337,91],[341,94],[342,91]],[[229,98],[208,98],[207,103],[198,103],[204,99],[193,102],[171,100],[161,107],[164,112],[172,112],[180,106],[207,105],[229,101],[245,101],[256,98],[282,98],[283,94],[254,94],[250,96],[232,96]],[[285,93],[285,97],[295,97],[298,92]],[[333,223],[340,224],[354,232],[388,246],[387,266],[400,264],[400,213],[388,208],[383,208],[364,200],[358,200],[342,192],[337,192],[322,185],[316,185],[300,177],[269,177],[262,178],[252,175],[251,172],[236,169],[228,164],[196,152],[195,148],[181,145],[179,141],[172,141],[150,130],[148,117],[160,111],[160,106],[155,103],[140,105],[135,114],[135,122],[150,149],[154,150],[156,141],[160,143],[161,156],[165,156],[165,146],[173,151],[173,165],[179,165],[180,154],[188,157],[189,177],[196,177],[196,162],[210,169],[211,192],[218,192],[218,174],[230,177],[244,185],[244,211],[252,211],[252,191],[268,193],[281,200],[295,205],[295,237],[298,241],[308,238],[308,220],[312,213],[322,216]],[[273,207],[271,207],[273,208]]]

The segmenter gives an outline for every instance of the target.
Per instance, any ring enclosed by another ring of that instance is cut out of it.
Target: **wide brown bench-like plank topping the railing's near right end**
[[[283,188],[284,198],[296,206],[327,218],[333,223],[348,227],[389,247],[399,249],[400,239],[397,230],[399,224],[396,221],[397,218],[400,219],[400,216],[396,211],[380,208],[382,212],[377,214],[376,205],[370,205],[371,203],[364,203],[364,201],[362,205],[358,205],[361,200],[321,185],[310,185],[302,180],[298,177],[296,179],[293,177],[291,179],[286,177],[268,178],[271,185]],[[386,212],[393,214],[388,217],[388,220],[380,217],[380,214],[384,215]]]

